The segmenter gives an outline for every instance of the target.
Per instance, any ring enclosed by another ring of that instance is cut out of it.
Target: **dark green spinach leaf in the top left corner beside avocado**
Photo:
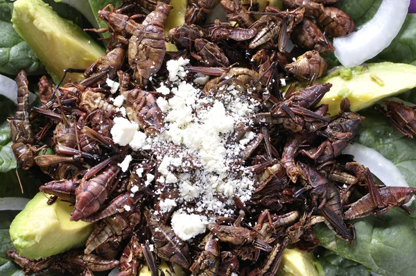
[[[27,74],[43,74],[43,65],[12,27],[12,10],[10,1],[0,0],[0,72],[15,75],[24,69]]]

